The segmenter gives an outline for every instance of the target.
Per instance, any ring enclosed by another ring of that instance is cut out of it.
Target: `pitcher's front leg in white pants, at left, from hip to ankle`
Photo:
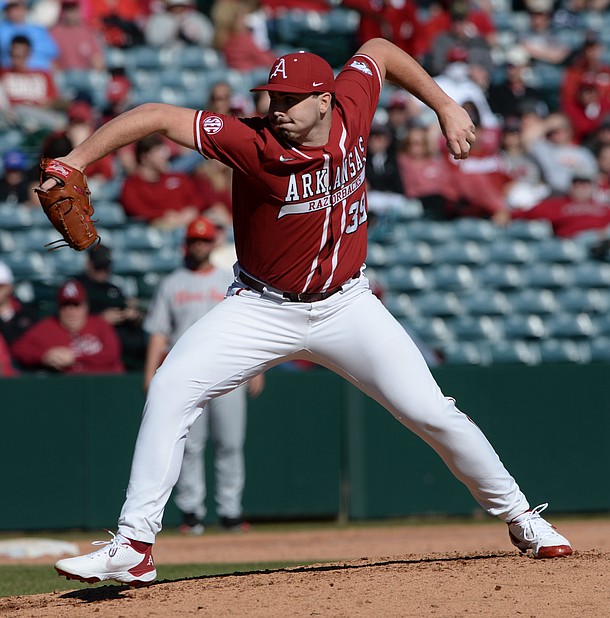
[[[245,292],[221,302],[180,338],[148,390],[120,534],[154,542],[186,436],[203,406],[301,349],[306,321],[305,314]]]

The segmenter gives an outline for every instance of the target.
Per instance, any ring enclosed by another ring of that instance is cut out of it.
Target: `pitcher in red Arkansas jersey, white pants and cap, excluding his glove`
[[[83,169],[158,132],[229,165],[238,261],[227,298],[174,345],[150,384],[117,535],[96,552],[59,560],[59,574],[153,581],[152,544],[189,428],[208,400],[291,359],[327,367],[383,405],[508,524],[519,549],[539,558],[572,553],[540,516],[546,505],[530,509],[481,430],[443,395],[409,335],[369,288],[364,167],[384,79],[434,110],[452,155],[468,156],[475,140],[468,113],[411,56],[372,39],[336,79],[315,54],[278,58],[268,83],[255,89],[269,92],[267,117],[145,104],[65,157]]]

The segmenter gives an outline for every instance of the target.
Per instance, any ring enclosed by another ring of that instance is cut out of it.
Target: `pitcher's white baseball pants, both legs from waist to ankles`
[[[387,408],[490,514],[510,521],[529,508],[481,430],[442,394],[366,277],[316,303],[289,302],[236,281],[228,297],[180,338],[151,382],[119,532],[154,542],[189,428],[209,399],[296,358],[328,367]]]

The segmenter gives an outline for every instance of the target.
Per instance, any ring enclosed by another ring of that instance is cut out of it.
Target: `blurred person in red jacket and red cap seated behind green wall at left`
[[[24,369],[64,374],[122,373],[119,338],[110,324],[89,314],[83,285],[66,281],[57,306],[57,316],[42,319],[13,344],[15,360]]]

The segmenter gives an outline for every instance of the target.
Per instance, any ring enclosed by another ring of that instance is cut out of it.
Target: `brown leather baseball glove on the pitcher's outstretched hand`
[[[40,161],[41,186],[49,178],[57,184],[46,191],[38,188],[36,193],[45,215],[62,235],[64,244],[57,245],[62,242],[59,239],[45,246],[51,246],[49,251],[66,246],[83,251],[99,244],[100,237],[91,220],[93,205],[85,175],[63,161],[43,158]]]

